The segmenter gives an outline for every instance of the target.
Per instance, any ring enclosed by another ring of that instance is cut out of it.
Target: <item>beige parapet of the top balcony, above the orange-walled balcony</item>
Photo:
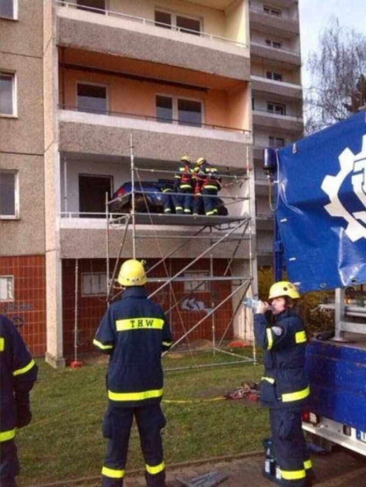
[[[249,58],[166,37],[58,18],[57,44],[248,79]]]

